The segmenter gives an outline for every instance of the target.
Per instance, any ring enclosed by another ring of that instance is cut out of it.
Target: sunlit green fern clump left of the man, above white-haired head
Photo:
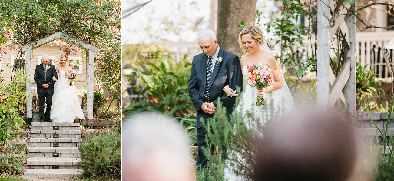
[[[195,112],[188,93],[191,70],[188,60],[176,62],[171,58],[158,56],[153,63],[135,63],[137,66],[129,77],[140,83],[132,85],[132,89],[139,95],[151,96],[149,100],[132,101],[124,113],[156,111],[169,116],[184,117]]]

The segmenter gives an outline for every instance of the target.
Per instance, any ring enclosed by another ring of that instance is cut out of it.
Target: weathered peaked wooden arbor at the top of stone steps
[[[28,68],[32,66],[31,62],[31,54],[32,50],[36,49],[42,45],[45,45],[46,43],[52,42],[56,39],[60,39],[62,41],[65,41],[67,43],[71,43],[72,45],[76,45],[78,47],[83,47],[86,51],[86,59],[87,59],[87,118],[92,119],[93,118],[93,76],[94,76],[94,67],[93,64],[95,62],[95,52],[98,52],[97,47],[90,45],[89,43],[85,43],[82,40],[76,39],[73,36],[67,35],[62,32],[57,32],[55,34],[46,36],[38,41],[35,41],[33,43],[29,43],[27,45],[24,45],[22,47],[22,53],[25,54],[25,62],[26,62],[26,80],[29,82],[26,84],[26,90],[28,92],[29,97],[26,97],[26,110],[27,110],[27,117],[32,118],[33,117],[33,106],[32,106],[32,69]],[[34,75],[33,75],[34,76]],[[30,104],[29,104],[30,103]]]

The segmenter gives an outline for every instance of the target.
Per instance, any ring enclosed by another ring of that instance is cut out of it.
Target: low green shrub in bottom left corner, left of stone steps
[[[8,160],[8,162],[7,162]],[[0,156],[0,173],[19,175],[23,173],[24,162],[26,161],[26,155],[15,157],[14,155]]]

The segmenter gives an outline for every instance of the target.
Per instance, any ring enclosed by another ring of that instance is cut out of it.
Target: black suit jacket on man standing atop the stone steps
[[[37,83],[37,93],[43,93],[44,90],[48,92],[48,94],[54,93],[54,84],[55,81],[52,80],[52,77],[58,78],[58,74],[56,73],[55,65],[51,65],[48,63],[48,71],[46,72],[46,82],[44,82],[44,65],[41,63],[40,65],[35,66],[34,71],[34,81]],[[48,84],[48,88],[43,88],[43,84]]]

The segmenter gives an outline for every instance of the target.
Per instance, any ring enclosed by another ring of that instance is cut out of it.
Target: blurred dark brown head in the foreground
[[[298,111],[264,132],[255,181],[345,181],[356,157],[350,120],[336,113]]]

